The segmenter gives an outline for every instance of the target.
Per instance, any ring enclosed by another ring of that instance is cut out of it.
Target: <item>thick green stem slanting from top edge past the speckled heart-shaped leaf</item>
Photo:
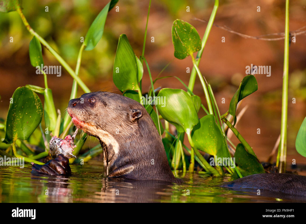
[[[216,16],[216,13],[217,13],[218,6],[219,6],[219,0],[215,0],[214,9],[211,12],[211,16],[210,16],[209,21],[207,23],[207,27],[206,27],[206,30],[205,30],[205,33],[204,33],[204,36],[203,36],[203,39],[202,39],[202,48],[201,48],[201,50],[198,51],[198,53],[196,55],[196,58],[197,58],[196,65],[197,66],[199,66],[199,64],[200,64],[202,53],[203,53],[205,44],[207,42],[208,35],[211,31],[211,27],[212,27],[213,22],[215,20],[215,16]],[[193,67],[192,71],[191,71],[190,79],[189,79],[189,84],[188,84],[188,87],[191,91],[193,91],[195,81],[196,81],[196,68]]]

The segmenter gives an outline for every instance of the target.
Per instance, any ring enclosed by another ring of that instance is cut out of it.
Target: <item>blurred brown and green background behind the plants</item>
[[[86,32],[96,15],[108,1],[62,0],[62,1],[23,1],[23,13],[32,28],[38,32],[74,69],[81,46],[80,37]],[[112,81],[114,57],[118,37],[125,33],[137,56],[142,52],[144,30],[147,19],[148,0],[119,0],[119,12],[114,9],[108,14],[103,38],[94,50],[84,51],[80,68],[80,78],[91,91],[106,90],[120,93]],[[306,26],[306,1],[290,1],[289,30],[296,31]],[[161,76],[176,75],[187,85],[189,75],[186,67],[192,68],[191,58],[179,60],[174,57],[171,40],[171,26],[175,19],[191,23],[199,32],[201,39],[206,23],[192,20],[209,20],[213,0],[159,0],[152,1],[148,22],[145,57],[150,65],[153,79],[168,64]],[[49,12],[45,12],[45,6]],[[186,7],[190,12],[186,12]],[[257,12],[260,6],[260,12]],[[258,36],[284,32],[285,0],[220,0],[215,24],[226,25],[239,33]],[[305,30],[305,28],[304,28]],[[9,38],[13,37],[13,42]],[[151,42],[154,37],[155,42]],[[225,42],[221,38],[225,37]],[[275,36],[274,36],[275,37]],[[277,36],[280,37],[280,36]],[[16,12],[0,13],[0,117],[6,118],[9,98],[19,86],[43,85],[43,75],[36,75],[30,64],[28,45],[32,36],[26,30]],[[280,133],[282,71],[284,40],[262,41],[244,39],[238,35],[212,27],[203,51],[200,70],[211,83],[215,97],[223,114],[228,110],[233,94],[245,75],[245,67],[251,64],[271,66],[271,77],[256,75],[258,91],[247,97],[242,105],[248,105],[237,129],[253,147],[258,158],[267,160]],[[43,49],[46,65],[60,65],[56,59]],[[295,138],[302,123],[306,99],[306,38],[305,34],[296,36],[296,42],[289,48],[289,103],[288,103],[288,149],[287,161],[306,163],[306,159],[295,150]],[[62,67],[62,76],[48,75],[49,88],[53,90],[55,106],[62,112],[69,101],[73,79]],[[144,68],[143,92],[150,86],[147,69]],[[175,78],[161,79],[156,87],[182,88]],[[205,98],[199,80],[196,80],[194,93]],[[83,94],[79,88],[79,96]],[[225,104],[221,99],[225,98]],[[296,98],[296,104],[292,98]],[[43,100],[43,98],[41,97]],[[240,108],[240,109],[241,109]],[[204,116],[201,110],[200,117]],[[257,129],[260,133],[257,134]],[[232,137],[235,144],[238,143]],[[98,143],[96,141],[96,143]],[[186,142],[187,144],[187,142]],[[274,156],[275,160],[275,156]],[[290,166],[288,164],[288,166]]]

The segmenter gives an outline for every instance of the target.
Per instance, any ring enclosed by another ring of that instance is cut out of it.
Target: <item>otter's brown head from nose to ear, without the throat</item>
[[[98,130],[112,136],[120,136],[123,128],[132,132],[131,129],[137,128],[143,110],[144,107],[138,102],[109,92],[83,94],[80,98],[70,100],[67,108],[73,124],[95,137],[99,137]],[[120,138],[126,137],[127,133]]]

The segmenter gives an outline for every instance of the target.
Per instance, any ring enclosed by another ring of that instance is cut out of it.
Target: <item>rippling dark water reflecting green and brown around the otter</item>
[[[296,202],[302,198],[260,196],[220,187],[223,178],[186,174],[182,185],[103,179],[101,161],[71,165],[69,178],[31,174],[31,165],[0,167],[1,202]],[[189,192],[189,195],[188,195]],[[282,198],[282,199],[280,199]]]

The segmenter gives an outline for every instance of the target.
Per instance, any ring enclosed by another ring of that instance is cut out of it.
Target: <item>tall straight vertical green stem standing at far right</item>
[[[284,73],[283,73],[283,91],[282,91],[282,123],[281,123],[281,139],[278,147],[278,160],[277,160],[279,173],[285,173],[286,171],[288,76],[289,76],[288,73],[289,73],[289,0],[286,0]]]

